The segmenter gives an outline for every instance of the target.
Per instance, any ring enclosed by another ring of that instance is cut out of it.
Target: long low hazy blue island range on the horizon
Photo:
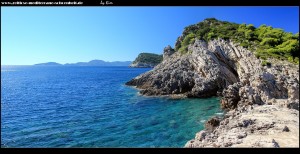
[[[131,61],[113,61],[106,62],[103,60],[91,60],[89,62],[77,62],[77,63],[66,63],[59,64],[56,62],[47,62],[35,64],[36,66],[129,66]]]

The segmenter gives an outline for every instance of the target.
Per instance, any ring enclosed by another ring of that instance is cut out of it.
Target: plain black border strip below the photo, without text
[[[258,153],[284,153],[291,151],[292,153],[297,153],[297,149],[299,148],[1,148],[1,152],[5,154],[8,153],[51,153],[51,154],[67,154],[67,153],[138,153],[138,154],[146,154],[146,153],[179,153],[179,154],[199,154],[199,153],[238,153],[241,151],[243,153],[249,153],[251,151]],[[248,152],[247,152],[247,151]],[[294,151],[294,152],[293,152]]]

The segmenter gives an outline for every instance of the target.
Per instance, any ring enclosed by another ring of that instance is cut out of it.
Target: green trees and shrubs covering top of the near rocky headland
[[[232,40],[241,46],[254,51],[258,58],[276,58],[299,64],[299,33],[292,34],[282,29],[252,24],[236,24],[208,18],[204,21],[185,27],[175,44],[175,50],[182,54],[188,52],[188,45],[195,38],[205,41],[214,38]]]

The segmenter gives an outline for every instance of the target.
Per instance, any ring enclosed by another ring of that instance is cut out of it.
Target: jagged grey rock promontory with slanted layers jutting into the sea
[[[239,81],[239,73],[249,72],[252,63],[245,49],[232,42],[196,40],[190,45],[190,54],[175,52],[164,58],[152,71],[142,74],[127,85],[137,86],[144,95],[182,94],[186,97],[210,97]],[[230,51],[229,51],[230,50]],[[254,64],[254,65],[255,65]]]

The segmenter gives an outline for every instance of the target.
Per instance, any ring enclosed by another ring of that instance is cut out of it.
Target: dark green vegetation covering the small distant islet
[[[140,53],[138,57],[133,61],[133,63],[147,63],[157,65],[163,60],[162,55],[157,55],[154,53]]]

